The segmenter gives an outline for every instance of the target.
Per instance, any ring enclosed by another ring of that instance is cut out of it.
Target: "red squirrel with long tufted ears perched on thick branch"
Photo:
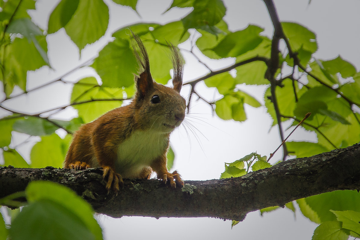
[[[135,76],[135,97],[129,105],[82,125],[73,136],[64,166],[102,167],[108,191],[119,191],[122,178],[149,179],[153,171],[171,187],[183,187],[177,171],[169,173],[166,168],[170,134],[185,117],[186,103],[180,95],[183,57],[176,46],[169,44],[174,67],[174,87],[169,88],[153,81],[149,56],[140,37],[131,31],[130,38],[140,67]]]

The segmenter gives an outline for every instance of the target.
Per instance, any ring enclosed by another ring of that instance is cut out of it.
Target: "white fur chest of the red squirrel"
[[[135,131],[117,149],[116,171],[124,178],[132,177],[144,166],[163,154],[168,137],[156,131]]]

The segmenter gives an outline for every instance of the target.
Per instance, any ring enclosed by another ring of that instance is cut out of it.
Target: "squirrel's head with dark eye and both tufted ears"
[[[180,50],[168,44],[172,52],[174,77],[172,88],[156,83],[150,73],[149,56],[140,37],[132,34],[132,47],[140,70],[135,77],[134,120],[143,130],[171,133],[185,118],[185,99],[180,90],[183,85],[184,60]]]

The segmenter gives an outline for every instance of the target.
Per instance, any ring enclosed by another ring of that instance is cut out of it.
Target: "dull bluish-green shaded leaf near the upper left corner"
[[[29,40],[31,39],[31,36],[43,35],[42,30],[38,26],[36,26],[35,23],[33,23],[29,18],[15,19],[9,24],[6,32],[19,33]]]

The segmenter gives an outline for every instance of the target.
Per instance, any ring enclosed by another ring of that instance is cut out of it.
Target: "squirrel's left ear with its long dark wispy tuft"
[[[138,90],[138,97],[141,99],[153,87],[154,81],[150,73],[149,55],[140,37],[130,30],[130,39],[132,49],[136,60],[139,63],[139,71],[136,79],[136,89]]]

